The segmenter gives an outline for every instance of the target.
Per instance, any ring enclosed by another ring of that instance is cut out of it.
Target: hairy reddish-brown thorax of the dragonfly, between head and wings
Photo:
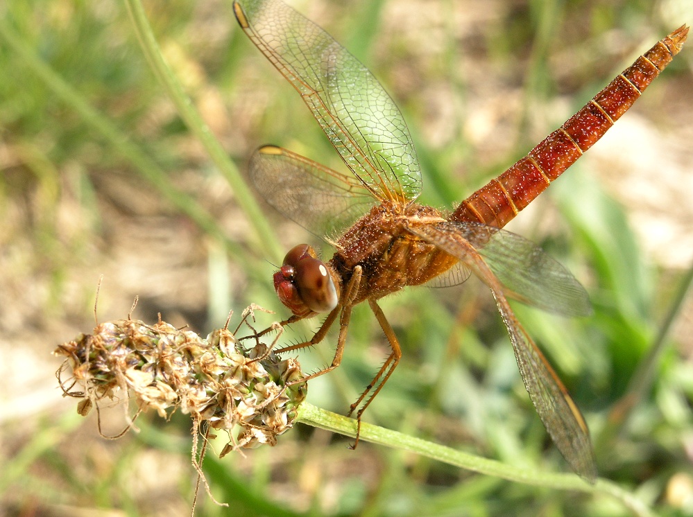
[[[438,210],[420,204],[384,202],[373,207],[336,242],[328,265],[342,286],[361,265],[356,303],[379,299],[404,286],[417,286],[449,270],[457,259],[411,234],[407,228],[445,220]]]

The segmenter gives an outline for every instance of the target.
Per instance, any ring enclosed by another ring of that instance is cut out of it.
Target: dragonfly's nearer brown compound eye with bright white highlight
[[[337,306],[339,300],[330,272],[318,259],[303,256],[294,266],[293,281],[303,303],[310,310],[327,313]]]

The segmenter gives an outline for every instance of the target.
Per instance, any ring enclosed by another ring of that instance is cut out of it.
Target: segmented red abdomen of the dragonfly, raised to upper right
[[[641,55],[529,155],[464,200],[450,220],[504,227],[604,136],[681,51],[687,35],[681,26]]]

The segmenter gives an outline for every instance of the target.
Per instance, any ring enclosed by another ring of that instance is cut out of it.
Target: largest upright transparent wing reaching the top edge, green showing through
[[[373,195],[381,201],[416,199],[421,171],[407,124],[373,73],[279,0],[234,1],[234,12]]]

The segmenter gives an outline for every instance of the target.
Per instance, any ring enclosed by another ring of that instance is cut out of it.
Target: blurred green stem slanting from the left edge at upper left
[[[71,85],[58,76],[48,64],[41,60],[22,38],[10,26],[7,18],[0,19],[0,39],[4,40],[18,55],[22,56],[24,64],[30,67],[36,75],[58,96],[62,102],[74,109],[96,132],[132,166],[140,175],[151,183],[169,202],[186,216],[191,218],[205,233],[219,238],[230,251],[240,255],[239,246],[225,236],[214,218],[194,198],[179,191],[171,185],[168,175],[146,152],[135,146],[108,118],[89,105]]]

